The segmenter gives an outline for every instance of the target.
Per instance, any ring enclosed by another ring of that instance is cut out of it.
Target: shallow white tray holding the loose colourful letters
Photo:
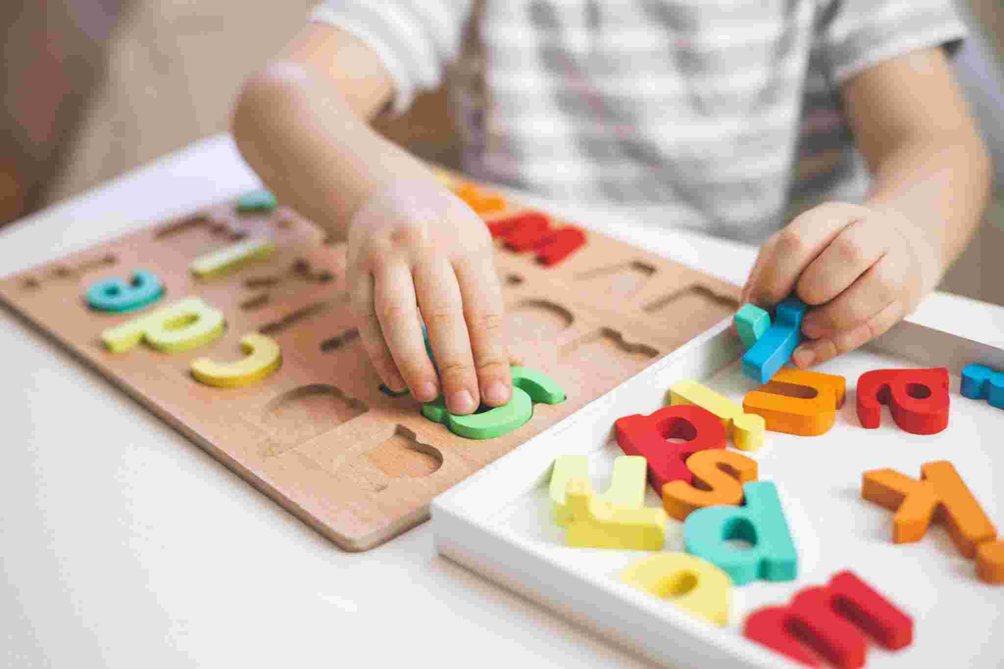
[[[896,652],[870,644],[868,666],[1004,666],[1004,588],[980,581],[973,561],[960,555],[940,525],[917,544],[894,544],[893,513],[860,497],[861,474],[868,469],[892,467],[919,477],[922,463],[948,459],[995,525],[1004,524],[1004,495],[994,490],[1004,484],[1004,411],[959,394],[965,365],[1004,368],[1004,351],[909,321],[865,349],[818,367],[847,380],[846,401],[827,433],[767,432],[763,448],[744,451],[757,460],[759,479],[777,484],[799,573],[793,582],[733,588],[726,627],[615,580],[649,552],[564,546],[547,494],[555,456],[587,454],[592,480],[602,490],[613,458],[622,454],[613,437],[616,418],[664,406],[669,387],[684,379],[741,402],[757,384],[743,376],[742,351],[728,326],[723,321],[437,497],[432,523],[439,552],[667,666],[801,666],[745,639],[742,622],[749,612],[787,604],[798,590],[823,585],[842,569],[914,618],[914,643]],[[947,429],[935,435],[905,432],[888,409],[878,429],[860,427],[854,408],[860,374],[942,366],[952,375]],[[647,504],[661,506],[651,485]],[[665,550],[683,550],[682,522],[670,519]]]

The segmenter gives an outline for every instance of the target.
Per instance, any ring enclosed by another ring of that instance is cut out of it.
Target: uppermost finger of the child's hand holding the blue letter
[[[821,205],[797,217],[768,244],[750,301],[772,307],[786,298],[809,264],[854,219],[849,206]]]

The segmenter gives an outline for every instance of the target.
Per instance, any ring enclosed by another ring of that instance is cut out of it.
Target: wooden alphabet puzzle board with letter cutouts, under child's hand
[[[519,211],[508,207],[492,216]],[[190,273],[195,258],[261,236],[275,244],[268,260],[217,278]],[[736,307],[735,286],[593,232],[554,267],[501,246],[496,258],[513,350],[567,399],[536,404],[529,422],[481,441],[379,390],[346,302],[343,245],[283,208],[209,207],[6,277],[0,301],[339,547],[360,551],[423,522],[434,496]],[[105,350],[100,333],[136,314],[90,310],[83,293],[136,269],[164,282],[155,308],[198,296],[221,310],[223,336],[179,353]],[[193,378],[194,359],[238,359],[254,331],[280,345],[280,369],[239,388]]]

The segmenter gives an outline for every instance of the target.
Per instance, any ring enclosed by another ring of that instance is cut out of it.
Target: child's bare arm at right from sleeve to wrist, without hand
[[[872,174],[865,206],[918,230],[922,290],[933,290],[979,225],[990,158],[941,48],[875,66],[843,87],[846,111]]]

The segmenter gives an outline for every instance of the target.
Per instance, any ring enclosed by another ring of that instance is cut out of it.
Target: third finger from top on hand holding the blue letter
[[[861,277],[827,304],[811,309],[802,320],[810,339],[832,337],[867,323],[899,295],[900,276],[889,258],[872,265]]]

